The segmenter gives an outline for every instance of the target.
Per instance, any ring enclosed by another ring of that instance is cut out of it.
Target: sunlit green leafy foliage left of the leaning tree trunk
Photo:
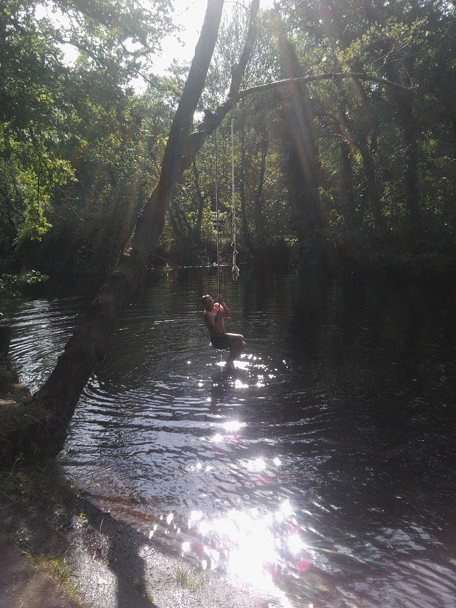
[[[173,29],[169,7],[0,2],[0,255],[87,271],[108,232],[99,270],[112,264],[143,203],[153,150],[153,113],[127,85],[139,73],[161,84],[150,61]],[[73,64],[62,45],[77,49]],[[67,252],[60,264],[57,241]]]

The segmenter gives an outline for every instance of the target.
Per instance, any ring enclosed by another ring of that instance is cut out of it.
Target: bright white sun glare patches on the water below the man
[[[258,379],[264,382],[266,376],[258,375]],[[235,385],[243,384],[237,380]],[[243,442],[246,422],[226,420],[217,426],[218,432],[207,438],[210,443],[220,447],[220,444],[224,444],[224,447],[229,449],[230,446],[238,446]],[[270,465],[275,470],[268,472]],[[245,460],[241,458],[237,471],[240,471],[241,475],[247,475],[250,482],[258,487],[268,485],[272,488],[275,483],[275,471],[280,467],[282,460],[278,456],[266,458],[257,454],[250,455],[250,458]],[[188,463],[185,470],[197,475],[216,472],[216,468],[206,465],[204,460]],[[276,500],[276,508],[237,507],[225,513],[191,511],[187,521],[184,519],[180,522],[178,546],[182,556],[196,560],[203,570],[222,573],[251,589],[274,596],[276,601],[278,600],[278,604],[274,603],[274,606],[291,608],[289,600],[280,590],[280,581],[284,576],[288,576],[290,571],[294,572],[295,576],[302,576],[308,570],[312,547],[306,545],[306,528],[299,525],[291,502],[281,499],[280,496],[276,496]],[[176,525],[172,514],[168,514],[164,519],[168,524],[168,530],[165,530],[164,534],[173,534],[170,528],[174,525],[175,530]]]

